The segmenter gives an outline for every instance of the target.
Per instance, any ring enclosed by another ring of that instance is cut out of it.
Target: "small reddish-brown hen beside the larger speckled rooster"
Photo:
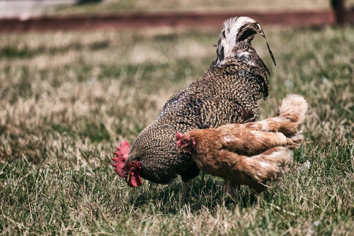
[[[287,171],[292,151],[303,140],[298,126],[304,122],[306,111],[302,96],[288,95],[275,118],[178,132],[176,146],[178,152],[190,152],[205,174],[261,193],[267,189],[267,181],[278,180]]]

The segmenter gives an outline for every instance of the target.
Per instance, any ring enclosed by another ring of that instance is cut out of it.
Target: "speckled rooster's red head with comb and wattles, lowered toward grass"
[[[114,171],[120,178],[125,178],[128,186],[139,187],[142,185],[142,179],[140,177],[140,172],[142,167],[140,166],[139,160],[127,161],[130,152],[130,145],[127,141],[120,142],[120,147],[117,148],[117,152],[113,152],[117,157],[112,157],[111,159],[115,162],[113,167]]]

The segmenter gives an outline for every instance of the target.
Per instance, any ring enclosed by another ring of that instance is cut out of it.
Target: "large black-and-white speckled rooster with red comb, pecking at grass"
[[[120,142],[118,151],[113,152],[113,167],[129,186],[141,186],[141,178],[169,184],[179,175],[185,183],[184,196],[200,170],[190,153],[176,152],[176,132],[256,118],[258,100],[269,94],[269,70],[251,46],[257,32],[265,39],[261,26],[251,18],[225,21],[217,58],[205,74],[174,94],[156,120],[139,133],[131,148],[127,141]],[[268,51],[275,64],[269,46]]]

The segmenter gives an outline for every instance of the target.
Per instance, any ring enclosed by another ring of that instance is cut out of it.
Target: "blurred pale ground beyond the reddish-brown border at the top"
[[[1,0],[0,16],[43,16],[76,13],[127,13],[159,11],[285,11],[331,9],[331,0]],[[343,1],[346,9],[354,0]]]

